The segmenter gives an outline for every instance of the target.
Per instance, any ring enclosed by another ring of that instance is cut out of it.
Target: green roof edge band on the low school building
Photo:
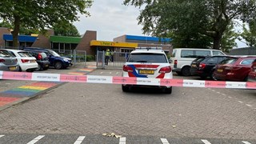
[[[80,37],[66,37],[66,36],[50,36],[50,42],[61,43],[79,43],[82,38]]]

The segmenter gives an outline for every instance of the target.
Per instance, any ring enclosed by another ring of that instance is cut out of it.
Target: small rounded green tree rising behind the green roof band
[[[72,23],[56,23],[53,30],[55,35],[80,37],[78,29]]]

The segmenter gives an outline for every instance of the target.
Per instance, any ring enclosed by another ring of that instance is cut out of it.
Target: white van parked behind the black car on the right
[[[170,66],[179,75],[190,75],[190,64],[198,56],[226,55],[221,50],[177,48],[170,57]]]

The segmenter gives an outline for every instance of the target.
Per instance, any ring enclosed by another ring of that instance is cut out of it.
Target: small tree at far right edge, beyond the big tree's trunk
[[[256,46],[256,23],[250,22],[248,26],[246,24],[242,25],[242,33],[240,34],[240,41],[244,39],[247,46]]]

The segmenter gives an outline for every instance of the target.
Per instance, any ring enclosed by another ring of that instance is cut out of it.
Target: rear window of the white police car
[[[168,63],[164,54],[136,53],[130,54],[127,62],[150,62],[150,63]]]

